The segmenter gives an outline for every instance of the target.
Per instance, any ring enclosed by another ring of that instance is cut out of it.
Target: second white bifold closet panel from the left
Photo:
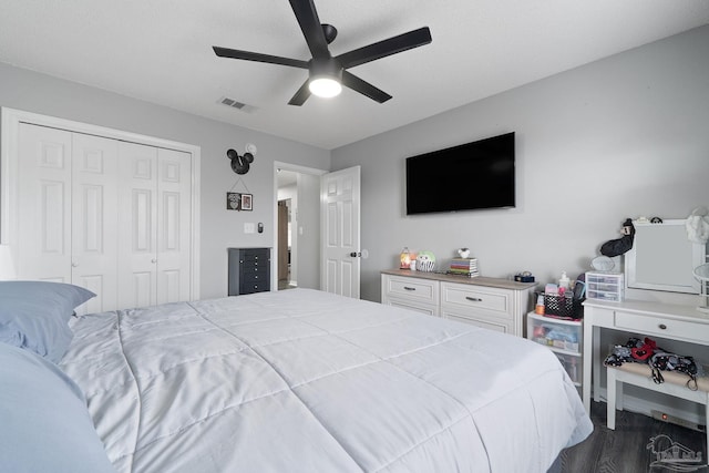
[[[96,294],[85,312],[117,308],[119,142],[72,135],[72,282]]]

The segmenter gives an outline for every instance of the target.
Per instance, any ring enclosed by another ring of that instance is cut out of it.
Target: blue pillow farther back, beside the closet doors
[[[0,281],[0,342],[25,348],[58,363],[74,333],[69,318],[96,295],[47,281]]]

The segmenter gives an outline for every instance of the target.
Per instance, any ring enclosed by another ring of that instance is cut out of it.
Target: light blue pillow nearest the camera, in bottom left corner
[[[56,364],[0,343],[0,470],[115,473],[81,389]]]

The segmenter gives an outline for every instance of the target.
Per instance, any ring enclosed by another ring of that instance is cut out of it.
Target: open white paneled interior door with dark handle
[[[320,178],[320,289],[359,299],[360,166]]]

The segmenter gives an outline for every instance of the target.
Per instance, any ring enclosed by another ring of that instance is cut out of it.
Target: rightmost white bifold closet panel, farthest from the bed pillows
[[[192,155],[157,151],[157,304],[189,300]]]

